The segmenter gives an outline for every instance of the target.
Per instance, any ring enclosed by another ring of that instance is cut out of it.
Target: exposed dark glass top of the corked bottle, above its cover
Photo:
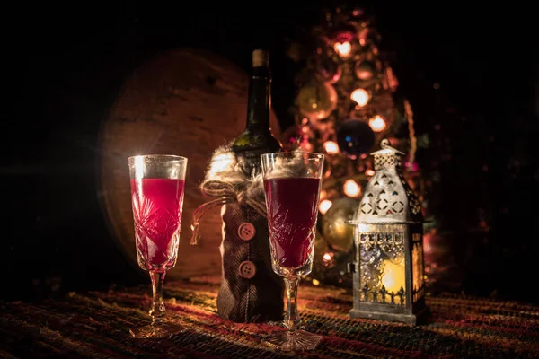
[[[281,144],[271,133],[270,106],[270,56],[267,51],[256,49],[252,51],[247,125],[232,145],[236,161],[247,176],[261,171],[261,154],[282,150]]]

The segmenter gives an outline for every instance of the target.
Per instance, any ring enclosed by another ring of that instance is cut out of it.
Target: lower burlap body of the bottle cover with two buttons
[[[236,322],[281,320],[283,280],[271,269],[266,218],[249,206],[234,203],[225,206],[223,223],[219,315]]]

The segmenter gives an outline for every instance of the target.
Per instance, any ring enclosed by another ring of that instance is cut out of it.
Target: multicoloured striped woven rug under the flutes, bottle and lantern
[[[539,357],[539,306],[454,295],[429,297],[420,327],[351,320],[343,289],[299,288],[308,330],[323,335],[312,352],[287,354],[261,343],[267,324],[216,315],[216,283],[165,283],[167,314],[190,326],[168,339],[134,339],[148,321],[147,286],[70,293],[62,301],[0,302],[0,357],[7,358],[531,358]]]

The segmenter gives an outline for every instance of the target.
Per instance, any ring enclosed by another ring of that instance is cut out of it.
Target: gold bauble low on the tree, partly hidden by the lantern
[[[333,200],[328,212],[322,217],[323,238],[333,250],[351,250],[354,241],[354,227],[347,221],[358,209],[358,201],[349,197]]]

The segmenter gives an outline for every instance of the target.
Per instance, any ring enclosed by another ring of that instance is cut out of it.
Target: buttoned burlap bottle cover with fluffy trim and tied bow
[[[261,176],[246,178],[230,147],[221,147],[213,155],[201,190],[213,199],[195,211],[191,243],[197,242],[204,213],[221,207],[223,218],[219,316],[239,323],[282,320],[284,285],[271,268]]]

